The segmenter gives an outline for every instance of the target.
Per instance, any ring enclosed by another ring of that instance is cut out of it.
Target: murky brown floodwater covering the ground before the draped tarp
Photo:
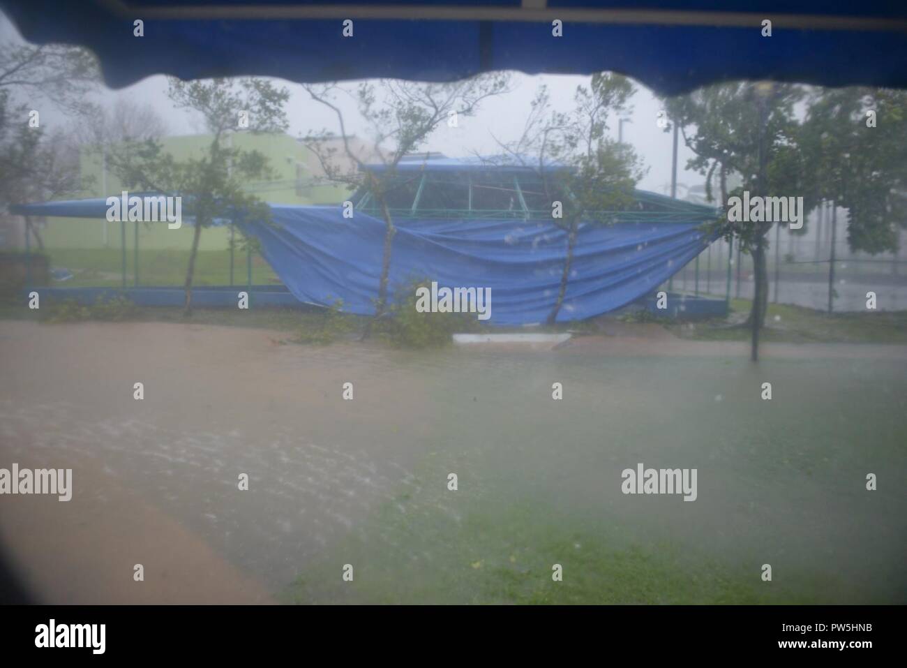
[[[469,602],[478,585],[447,586],[450,572],[478,577],[512,551],[504,535],[532,550],[530,527],[559,526],[756,580],[771,563],[791,600],[907,602],[907,347],[768,345],[754,366],[744,345],[664,338],[280,338],[0,322],[0,467],[73,468],[68,503],[0,496],[0,538],[35,594],[268,603],[326,572],[339,585],[353,560],[385,588],[343,600]],[[697,468],[696,502],[622,494],[639,463]]]

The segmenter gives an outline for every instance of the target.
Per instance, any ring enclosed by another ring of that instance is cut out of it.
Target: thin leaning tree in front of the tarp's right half
[[[594,74],[589,87],[577,86],[573,109],[561,113],[552,110],[550,93],[542,85],[520,139],[498,142],[506,161],[537,172],[544,199],[551,202],[551,220],[566,232],[561,282],[549,324],[557,320],[567,293],[580,226],[613,222],[619,210],[633,203],[633,189],[644,175],[629,145],[605,136],[609,115],[626,112],[634,93],[620,74]]]

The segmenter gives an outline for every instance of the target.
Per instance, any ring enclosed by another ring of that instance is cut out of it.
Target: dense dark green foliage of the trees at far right
[[[795,104],[806,103],[801,123]],[[785,83],[730,82],[664,101],[696,155],[688,169],[722,184],[720,203],[744,190],[763,196],[801,195],[806,211],[834,201],[848,211],[853,251],[897,246],[897,225],[907,227],[907,93],[886,89],[811,88]],[[875,113],[875,126],[867,113]],[[760,164],[763,142],[763,164]],[[730,192],[726,180],[741,182]],[[760,176],[761,174],[761,176]],[[749,252],[772,223],[725,221]],[[805,228],[799,233],[804,233]]]

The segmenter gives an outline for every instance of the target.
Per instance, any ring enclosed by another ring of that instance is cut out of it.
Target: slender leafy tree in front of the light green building
[[[268,221],[270,216],[268,205],[244,189],[250,180],[267,178],[267,158],[261,152],[232,146],[228,135],[238,128],[253,133],[286,130],[284,105],[289,93],[286,88],[258,78],[193,82],[171,79],[168,95],[177,108],[200,114],[211,135],[208,150],[200,157],[177,161],[171,153],[164,152],[157,139],[130,139],[109,156],[109,162],[126,188],[180,196],[186,201],[184,210],[195,224],[184,285],[185,313],[190,315],[202,228],[218,219],[248,216]]]

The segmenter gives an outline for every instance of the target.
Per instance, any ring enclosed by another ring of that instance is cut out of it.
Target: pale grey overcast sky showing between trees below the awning
[[[10,41],[21,42],[22,38],[15,31],[5,15],[0,15],[0,44]],[[471,155],[474,152],[495,153],[498,151],[493,137],[502,141],[516,139],[522,129],[529,103],[536,88],[546,83],[551,91],[555,106],[566,110],[571,106],[573,91],[580,83],[589,83],[588,76],[572,75],[536,75],[513,74],[511,93],[491,98],[472,118],[461,118],[458,128],[448,128],[446,123],[430,138],[424,147],[428,151],[440,151],[450,156]],[[302,87],[295,83],[281,82],[291,92],[288,106],[290,121],[289,133],[308,133],[327,127],[336,131],[334,118],[321,105],[307,99]],[[633,112],[629,114],[632,123],[624,123],[624,141],[633,145],[649,172],[639,183],[639,187],[655,192],[666,192],[666,184],[671,178],[671,135],[663,132],[656,124],[660,106],[647,88],[637,83],[638,93],[632,99]],[[105,89],[99,94],[98,102],[112,104],[118,96],[127,97],[132,102],[151,106],[166,121],[171,134],[192,134],[203,132],[197,119],[189,113],[174,109],[167,97],[167,80],[164,76],[151,76],[139,83],[119,91]],[[358,126],[355,108],[350,101],[344,109],[350,125],[350,132],[362,134],[364,128]],[[67,124],[68,119],[53,109],[42,110],[44,127],[53,129],[54,125]],[[617,138],[617,119],[610,119],[610,133]],[[696,172],[686,172],[684,166],[691,152],[680,142],[678,155],[678,183],[696,185],[705,181]],[[678,195],[684,191],[678,189]]]

